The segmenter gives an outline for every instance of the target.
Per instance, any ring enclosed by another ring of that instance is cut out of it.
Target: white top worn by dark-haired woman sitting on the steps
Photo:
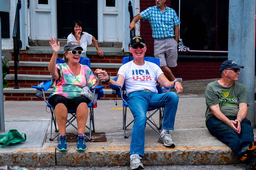
[[[80,39],[80,44],[81,44],[81,47],[83,48],[83,51],[82,52],[86,52],[87,50],[87,45],[90,45],[92,43],[92,35],[91,34],[88,34],[87,32],[83,32],[84,34],[81,36],[81,39]],[[76,42],[76,38],[75,36],[71,33],[68,35],[68,43],[69,42]]]

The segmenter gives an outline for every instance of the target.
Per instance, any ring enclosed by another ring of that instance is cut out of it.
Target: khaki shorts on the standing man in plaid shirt
[[[174,37],[165,39],[154,39],[154,57],[159,58],[160,66],[177,66],[177,46]]]

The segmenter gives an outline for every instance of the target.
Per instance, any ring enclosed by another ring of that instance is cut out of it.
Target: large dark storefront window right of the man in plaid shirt
[[[218,0],[180,1],[183,45],[190,50],[228,50],[228,5]]]

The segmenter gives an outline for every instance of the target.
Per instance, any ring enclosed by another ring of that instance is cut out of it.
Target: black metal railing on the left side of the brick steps
[[[19,89],[18,87],[18,68],[19,68],[19,61],[20,61],[20,49],[21,49],[21,41],[20,41],[20,7],[21,2],[18,0],[15,19],[14,19],[14,26],[12,32],[13,38],[13,55],[14,55],[14,82],[15,86],[14,89]]]

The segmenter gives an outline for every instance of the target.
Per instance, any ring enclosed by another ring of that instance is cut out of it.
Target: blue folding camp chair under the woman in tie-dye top
[[[56,63],[64,63],[65,61],[60,59],[60,58],[57,58],[57,61]],[[80,58],[80,61],[79,61],[80,64],[83,64],[83,65],[87,65],[88,67],[91,67],[90,65],[90,59],[89,58],[85,58],[85,57],[81,57]],[[50,129],[50,141],[54,140],[60,133],[57,133],[54,137],[52,137],[52,125],[54,125],[54,128],[55,128],[55,132],[59,132],[58,128],[57,128],[57,123],[56,123],[56,117],[55,117],[55,112],[54,112],[54,108],[52,107],[51,104],[49,104],[45,98],[45,94],[44,92],[47,91],[50,87],[51,87],[51,80],[48,80],[44,83],[44,87],[38,87],[38,86],[32,86],[33,88],[35,89],[38,89],[38,90],[41,90],[43,91],[43,97],[44,97],[44,101],[45,103],[47,104],[46,107],[49,107],[50,108],[50,111],[51,111],[51,114],[52,114],[52,117],[51,117],[51,129]],[[103,90],[102,88],[105,87],[105,86],[98,86],[98,87],[95,87],[95,88],[92,88],[91,90],[93,91],[93,99],[94,99],[94,96],[95,96],[95,93],[98,94],[98,98],[97,99],[100,99],[101,97],[103,97],[104,93],[103,93]],[[92,101],[93,102],[93,101]],[[94,133],[95,132],[95,129],[94,129],[94,112],[93,112],[93,105],[92,105],[92,102],[87,104],[88,108],[90,108],[90,125],[89,127],[86,125],[86,128],[89,129],[89,136],[86,136],[85,137],[88,139],[88,140],[92,140],[92,132]],[[95,107],[95,106],[94,106]],[[97,106],[96,106],[97,107]],[[77,130],[77,127],[72,123],[74,120],[76,120],[76,110],[68,110],[68,113],[71,114],[71,117],[69,119],[67,119],[67,124],[66,124],[66,128],[71,125],[73,126],[74,128],[76,128]]]

